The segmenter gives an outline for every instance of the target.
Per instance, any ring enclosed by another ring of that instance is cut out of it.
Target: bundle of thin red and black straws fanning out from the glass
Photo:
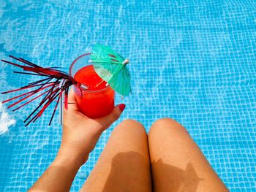
[[[11,108],[15,106],[16,108],[12,111],[16,111],[21,107],[25,106],[26,104],[31,103],[31,101],[42,98],[38,106],[24,120],[24,123],[26,123],[25,126],[28,126],[29,123],[31,122],[34,123],[37,120],[37,118],[39,118],[42,115],[42,113],[49,107],[49,105],[54,100],[56,100],[57,102],[49,122],[49,126],[50,126],[50,123],[52,122],[53,116],[55,115],[56,109],[58,107],[59,101],[61,101],[61,104],[62,104],[63,96],[64,96],[64,107],[65,109],[67,109],[68,107],[67,99],[68,99],[69,87],[71,85],[77,85],[78,88],[81,88],[81,83],[77,82],[74,78],[70,77],[69,74],[65,72],[61,72],[60,70],[57,69],[57,67],[43,68],[41,66],[38,66],[37,64],[31,63],[30,61],[26,61],[23,58],[15,58],[12,55],[10,55],[10,58],[15,59],[16,61],[20,61],[23,65],[15,64],[13,62],[5,61],[5,60],[1,60],[1,61],[7,64],[11,64],[13,66],[18,66],[19,68],[23,69],[23,71],[26,71],[26,72],[14,72],[14,73],[29,74],[29,75],[41,76],[45,78],[42,80],[37,80],[35,82],[30,82],[29,85],[23,86],[21,88],[3,92],[2,94],[12,93],[16,91],[24,91],[24,90],[28,91],[26,93],[22,93],[18,96],[2,101],[2,103],[7,103],[12,100],[18,99],[18,101],[15,101],[14,103],[10,104],[7,107],[7,108]],[[20,104],[20,102],[22,101],[26,101],[26,102],[24,104]],[[18,104],[20,105],[17,107]]]

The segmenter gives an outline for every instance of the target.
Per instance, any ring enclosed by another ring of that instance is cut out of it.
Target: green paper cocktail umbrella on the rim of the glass
[[[123,96],[131,92],[131,76],[127,69],[128,59],[124,59],[110,47],[95,44],[91,51],[91,62],[94,70],[102,80],[108,82],[111,88]]]

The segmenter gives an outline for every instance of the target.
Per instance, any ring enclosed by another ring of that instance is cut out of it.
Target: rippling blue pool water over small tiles
[[[230,191],[256,191],[255,1],[0,0],[0,20],[0,58],[12,54],[67,71],[99,42],[131,61],[132,96],[116,97],[127,109],[99,139],[71,191],[83,185],[117,123],[133,118],[148,131],[164,116],[187,128]],[[33,81],[13,69],[1,64],[0,92]],[[53,161],[61,126],[56,116],[48,127],[48,112],[25,128],[35,105],[6,107],[0,191],[26,191]]]

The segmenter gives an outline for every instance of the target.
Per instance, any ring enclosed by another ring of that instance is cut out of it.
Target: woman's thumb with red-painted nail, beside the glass
[[[105,117],[101,118],[102,123],[104,124],[104,129],[108,128],[112,123],[114,123],[120,117],[121,113],[124,111],[125,104],[118,104],[110,114],[106,115]]]

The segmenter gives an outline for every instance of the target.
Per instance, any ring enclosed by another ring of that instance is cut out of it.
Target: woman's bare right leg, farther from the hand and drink
[[[148,134],[154,191],[228,191],[222,180],[175,120],[157,120]]]

